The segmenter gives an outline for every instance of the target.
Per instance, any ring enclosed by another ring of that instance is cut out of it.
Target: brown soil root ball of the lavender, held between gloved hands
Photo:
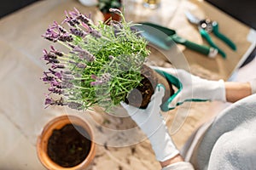
[[[125,99],[125,103],[133,105],[142,109],[147,108],[151,96],[154,94],[154,89],[157,84],[162,84],[166,88],[165,95],[163,97],[163,103],[174,94],[172,83],[168,82],[165,77],[162,77],[159,73],[149,68],[147,65],[143,65],[141,74],[144,77],[141,83],[143,86],[139,86],[131,90],[128,97]]]

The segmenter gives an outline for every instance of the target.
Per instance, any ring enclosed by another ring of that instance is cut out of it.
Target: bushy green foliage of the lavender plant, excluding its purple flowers
[[[147,42],[131,31],[131,24],[125,20],[120,26],[122,28],[116,30],[114,26],[100,22],[94,28],[101,32],[101,38],[89,36],[85,43],[84,40],[76,42],[96,57],[94,62],[86,62],[87,68],[82,75],[82,79],[87,80],[81,84],[81,100],[85,108],[94,104],[106,109],[119,105],[142,80],[140,69],[148,56]],[[110,81],[91,86],[90,82],[94,80],[90,75],[102,77],[107,73],[111,75]]]

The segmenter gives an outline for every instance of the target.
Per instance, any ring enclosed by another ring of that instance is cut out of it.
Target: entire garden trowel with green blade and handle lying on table
[[[148,42],[151,42],[157,47],[166,50],[172,48],[172,45],[176,42],[196,52],[205,54],[211,58],[214,58],[216,54],[218,54],[218,50],[216,48],[197,44],[195,42],[190,42],[189,40],[178,36],[175,30],[164,26],[156,25],[149,22],[142,22],[139,23],[139,25],[133,27],[139,31],[142,31],[141,35],[145,37]]]

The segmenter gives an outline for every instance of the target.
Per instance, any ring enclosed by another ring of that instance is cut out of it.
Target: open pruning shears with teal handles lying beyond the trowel
[[[205,38],[212,48],[218,49],[218,54],[221,54],[223,58],[226,57],[224,50],[219,48],[215,42],[212,41],[210,33],[212,32],[216,37],[225,42],[231,49],[236,51],[236,44],[230,40],[229,37],[224,36],[223,33],[218,31],[218,22],[210,19],[199,19],[189,11],[185,12],[190,23],[195,24],[200,31],[201,37]]]

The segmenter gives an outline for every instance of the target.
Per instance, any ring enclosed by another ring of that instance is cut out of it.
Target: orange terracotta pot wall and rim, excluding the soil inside
[[[55,129],[61,129],[67,124],[75,124],[80,127],[83,127],[84,130],[90,135],[90,151],[88,156],[85,157],[84,161],[79,163],[79,165],[76,165],[75,167],[61,167],[55,161],[52,161],[48,154],[47,154],[47,147],[48,147],[48,141],[49,137],[52,135],[53,130]],[[40,136],[38,136],[38,142],[37,142],[37,151],[38,151],[38,158],[41,161],[41,163],[50,170],[79,170],[79,169],[85,169],[90,165],[90,162],[94,159],[95,156],[95,147],[96,144],[93,142],[93,133],[91,130],[91,127],[87,122],[84,122],[81,118],[78,116],[58,116],[55,117],[53,120],[48,122],[46,126],[43,129],[43,132]]]

